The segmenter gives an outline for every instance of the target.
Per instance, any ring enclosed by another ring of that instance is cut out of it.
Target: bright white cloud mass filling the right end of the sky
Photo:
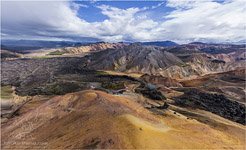
[[[180,40],[238,41],[246,39],[245,1],[235,0],[224,3],[199,1],[196,3],[174,4],[179,8],[165,16],[170,19],[161,24],[172,36]],[[185,6],[185,7],[182,7]],[[173,38],[174,38],[173,37]]]

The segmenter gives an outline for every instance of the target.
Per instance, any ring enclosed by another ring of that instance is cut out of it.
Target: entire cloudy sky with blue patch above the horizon
[[[178,43],[246,39],[245,0],[1,2],[1,38]]]

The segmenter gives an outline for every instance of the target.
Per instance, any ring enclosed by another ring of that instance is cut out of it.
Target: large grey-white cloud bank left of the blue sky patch
[[[65,1],[3,1],[1,8],[2,32],[12,36],[80,36],[90,29]]]

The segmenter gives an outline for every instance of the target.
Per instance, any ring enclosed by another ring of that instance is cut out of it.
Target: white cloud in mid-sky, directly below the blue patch
[[[109,41],[148,40],[149,30],[158,25],[151,19],[138,15],[144,9],[119,9],[107,5],[98,6],[108,19],[97,22],[100,38]]]

